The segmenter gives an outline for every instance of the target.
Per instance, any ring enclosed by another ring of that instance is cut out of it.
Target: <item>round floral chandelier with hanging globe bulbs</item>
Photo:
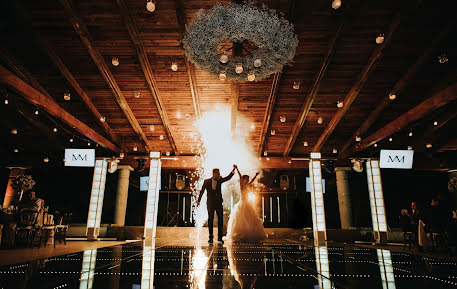
[[[217,4],[200,10],[186,27],[187,58],[220,80],[258,81],[292,62],[298,45],[293,25],[265,5]]]

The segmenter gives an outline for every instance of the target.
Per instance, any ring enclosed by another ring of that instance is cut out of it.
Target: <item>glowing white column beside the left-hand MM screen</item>
[[[100,158],[95,160],[94,178],[92,180],[92,192],[90,195],[89,203],[89,213],[87,215],[86,236],[88,240],[97,240],[99,235],[107,169],[107,159]]]

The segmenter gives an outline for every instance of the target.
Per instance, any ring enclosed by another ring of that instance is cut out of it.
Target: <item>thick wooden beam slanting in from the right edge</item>
[[[374,132],[370,136],[362,140],[362,142],[355,147],[351,153],[364,150],[373,144],[381,141],[382,139],[391,136],[392,134],[404,129],[409,124],[423,118],[432,111],[454,101],[457,99],[457,83],[454,83],[447,88],[435,93],[427,98],[414,108],[400,115],[383,128]]]

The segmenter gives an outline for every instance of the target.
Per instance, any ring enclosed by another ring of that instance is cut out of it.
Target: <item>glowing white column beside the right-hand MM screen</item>
[[[385,243],[387,241],[388,233],[379,160],[368,160],[366,162],[366,168],[373,234],[376,242]]]

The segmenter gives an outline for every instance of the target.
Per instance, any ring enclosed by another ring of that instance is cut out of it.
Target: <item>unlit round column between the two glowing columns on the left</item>
[[[118,166],[119,180],[117,182],[116,206],[114,207],[114,224],[125,225],[125,214],[127,212],[127,199],[129,197],[129,178],[133,171],[131,166]]]

